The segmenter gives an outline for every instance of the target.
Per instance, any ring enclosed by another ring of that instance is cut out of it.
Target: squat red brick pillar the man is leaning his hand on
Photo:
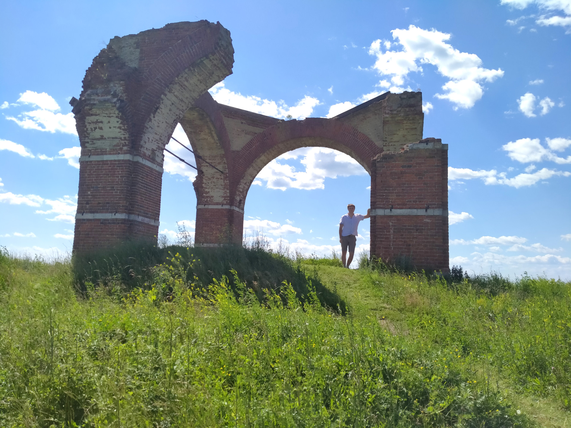
[[[372,160],[371,256],[449,271],[448,144],[427,138]]]

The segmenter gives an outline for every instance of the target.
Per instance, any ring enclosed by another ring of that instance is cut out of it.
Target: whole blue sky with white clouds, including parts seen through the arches
[[[449,144],[451,265],[571,278],[571,0],[2,2],[0,245],[71,249],[68,100],[110,38],[198,19],[232,35],[234,74],[211,90],[221,103],[303,119],[423,91],[424,136]],[[175,240],[177,221],[194,227],[194,173],[172,158],[165,169],[160,231]],[[369,185],[348,156],[291,152],[252,185],[245,233],[331,253],[345,206],[364,213]],[[364,220],[360,249],[368,232]]]

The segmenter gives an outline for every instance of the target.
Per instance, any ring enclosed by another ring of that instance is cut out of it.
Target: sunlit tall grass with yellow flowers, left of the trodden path
[[[163,284],[150,290],[118,298],[90,289],[77,300],[69,268],[51,269],[2,264],[2,426],[526,420],[471,371],[470,357],[447,362],[449,348],[393,336],[358,308],[337,316],[315,293],[302,304],[289,284],[267,290],[260,304],[238,277],[236,294],[226,279],[204,288],[163,265]]]

